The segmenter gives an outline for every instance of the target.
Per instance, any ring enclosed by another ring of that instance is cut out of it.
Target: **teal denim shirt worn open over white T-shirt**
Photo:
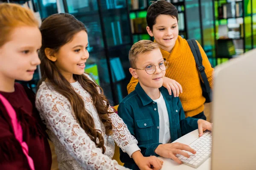
[[[198,119],[185,118],[179,97],[169,95],[166,88],[159,88],[166,102],[169,115],[171,141],[198,128]],[[135,91],[126,96],[118,107],[118,114],[127,125],[131,134],[138,140],[143,156],[158,156],[154,150],[159,144],[159,114],[157,103],[154,102],[137,84]],[[139,168],[127,153],[120,149],[120,160],[124,166],[132,170]]]

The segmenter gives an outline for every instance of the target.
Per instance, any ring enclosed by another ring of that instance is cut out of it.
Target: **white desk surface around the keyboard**
[[[194,142],[196,139],[198,139],[198,130],[194,130],[179,139],[177,139],[174,142],[180,142],[183,144],[191,144]],[[201,164],[197,169],[193,167],[189,167],[188,165],[185,164],[178,164],[172,159],[168,158],[163,158],[163,157],[158,157],[159,159],[163,160],[163,168],[161,170],[210,170],[211,169],[211,157],[208,158],[206,161],[204,161],[203,164]]]

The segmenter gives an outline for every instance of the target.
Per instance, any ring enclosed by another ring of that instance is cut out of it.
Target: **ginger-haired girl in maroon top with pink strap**
[[[50,170],[52,155],[29,81],[40,64],[38,20],[17,4],[0,4],[0,169]],[[8,107],[8,105],[9,107]]]

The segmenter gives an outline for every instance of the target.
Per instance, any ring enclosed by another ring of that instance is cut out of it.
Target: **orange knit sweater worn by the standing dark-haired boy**
[[[205,73],[210,87],[212,88],[212,74],[214,69],[211,67],[207,55],[199,43],[198,46],[203,58]],[[180,94],[179,97],[186,117],[195,116],[204,111],[205,98],[202,95],[200,77],[188,42],[178,36],[171,54],[163,49],[160,50],[163,54],[163,58],[169,62],[169,67],[166,70],[166,77],[175,79],[182,86],[183,93]],[[137,83],[138,79],[132,77],[130,83],[127,85],[128,94],[134,91]]]

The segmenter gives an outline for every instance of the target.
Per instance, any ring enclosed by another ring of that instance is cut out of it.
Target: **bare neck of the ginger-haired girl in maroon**
[[[0,74],[0,91],[9,93],[14,92],[14,83],[15,79],[5,77],[2,74]]]

